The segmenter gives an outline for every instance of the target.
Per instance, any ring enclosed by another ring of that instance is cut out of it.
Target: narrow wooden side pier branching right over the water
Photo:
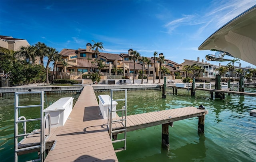
[[[175,108],[170,110],[162,110],[157,112],[147,112],[143,114],[129,115],[126,119],[127,132],[147,128],[150,126],[157,126],[162,124],[172,124],[178,120],[204,116],[208,114],[208,110],[201,110],[195,107]],[[112,118],[112,120],[119,120],[121,117]],[[105,120],[107,122],[107,120]],[[114,122],[113,129],[122,128],[121,122]]]

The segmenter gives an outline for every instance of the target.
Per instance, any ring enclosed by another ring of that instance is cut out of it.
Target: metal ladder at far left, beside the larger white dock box
[[[26,105],[26,106],[19,106],[19,94],[41,94],[41,103],[38,105]],[[41,161],[43,162],[45,159],[45,138],[44,138],[44,92],[15,92],[15,99],[14,99],[14,161],[18,162],[18,152],[26,151],[26,150],[33,150],[36,148],[40,148],[40,158],[36,160],[32,160],[33,162],[36,161]],[[40,118],[35,118],[35,119],[26,119],[24,116],[18,117],[19,109],[20,108],[32,108],[32,107],[40,107],[41,108],[41,115]],[[23,119],[23,120],[21,120]],[[31,133],[26,133],[26,122],[32,122],[32,121],[41,121],[41,128],[40,132],[31,132]],[[24,122],[24,132],[23,134],[18,134],[18,124]],[[35,146],[30,146],[30,147],[25,147],[25,148],[18,148],[18,138],[19,137],[24,137],[23,139],[26,138],[27,135],[32,135],[32,134],[41,134],[41,140],[39,145]]]

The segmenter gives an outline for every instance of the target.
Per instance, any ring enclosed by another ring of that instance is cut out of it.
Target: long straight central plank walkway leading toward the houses
[[[45,162],[118,161],[92,86],[85,86]]]

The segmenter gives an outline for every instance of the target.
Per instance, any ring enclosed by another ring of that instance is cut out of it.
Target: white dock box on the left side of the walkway
[[[72,111],[73,100],[73,97],[63,97],[44,109],[44,113],[51,116],[51,127],[64,126]]]

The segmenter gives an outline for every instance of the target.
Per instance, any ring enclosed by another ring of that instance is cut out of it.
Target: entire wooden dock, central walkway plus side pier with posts
[[[173,126],[174,121],[198,116],[198,131],[204,132],[206,114],[208,110],[185,107],[130,115],[126,120],[127,131],[162,125],[168,132],[168,126]],[[107,120],[101,115],[92,86],[84,87],[69,118],[64,126],[51,129],[51,136],[46,141],[46,149],[49,149],[53,142],[56,142],[56,146],[54,150],[48,152],[45,162],[118,161],[107,130]],[[115,122],[112,126],[114,129],[122,127],[119,122]],[[168,140],[168,136],[166,137]],[[19,147],[31,146],[39,141],[40,136],[28,136]]]

